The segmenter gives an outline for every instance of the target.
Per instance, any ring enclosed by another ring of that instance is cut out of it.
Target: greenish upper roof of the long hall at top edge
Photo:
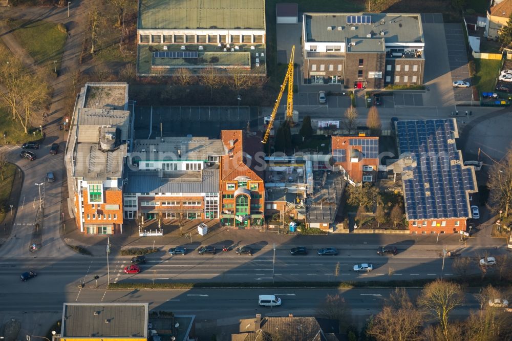
[[[138,29],[265,29],[264,0],[141,0]]]

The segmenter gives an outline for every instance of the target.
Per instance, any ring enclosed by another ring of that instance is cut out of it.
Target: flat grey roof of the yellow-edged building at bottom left
[[[61,337],[145,338],[147,303],[64,303]]]

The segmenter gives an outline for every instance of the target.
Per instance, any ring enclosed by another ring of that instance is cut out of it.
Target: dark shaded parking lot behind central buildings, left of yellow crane
[[[221,130],[254,129],[258,108],[248,106],[137,106],[134,118],[136,139],[162,135],[219,138]],[[151,129],[150,129],[151,126]]]

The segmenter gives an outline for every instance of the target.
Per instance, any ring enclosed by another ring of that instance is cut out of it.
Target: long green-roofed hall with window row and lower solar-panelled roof
[[[139,75],[175,75],[182,68],[265,75],[265,2],[141,0],[137,42]]]

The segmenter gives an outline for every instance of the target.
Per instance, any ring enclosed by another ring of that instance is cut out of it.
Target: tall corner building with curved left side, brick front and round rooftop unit
[[[76,101],[65,162],[68,204],[81,232],[122,232],[124,159],[130,139],[127,109],[126,83],[87,83]]]

